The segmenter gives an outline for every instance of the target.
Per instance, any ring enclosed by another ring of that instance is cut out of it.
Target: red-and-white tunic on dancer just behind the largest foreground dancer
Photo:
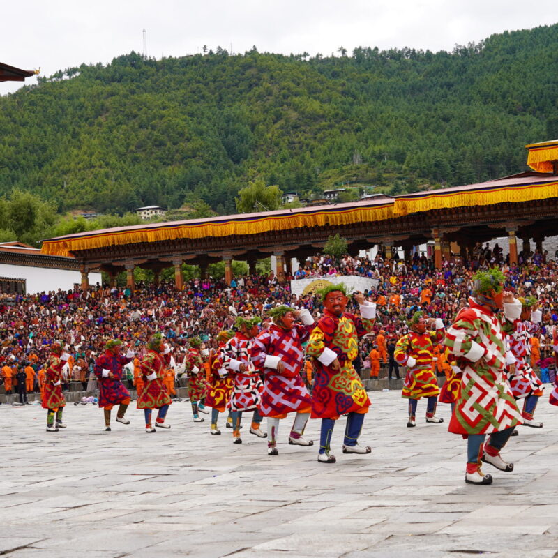
[[[513,333],[508,338],[511,354],[515,358],[515,374],[509,378],[511,393],[515,399],[527,397],[534,392],[538,392],[535,395],[541,395],[543,389],[543,382],[531,368],[531,337],[536,330],[536,324],[518,319],[513,322]]]

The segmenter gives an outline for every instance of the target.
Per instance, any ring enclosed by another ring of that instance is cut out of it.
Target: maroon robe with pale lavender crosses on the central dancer
[[[310,337],[313,326],[294,324],[293,329],[282,329],[276,324],[260,333],[252,347],[252,361],[264,370],[264,390],[259,412],[262,416],[280,418],[292,412],[310,412],[310,393],[301,377],[304,364],[303,342]],[[285,365],[280,374],[276,357]],[[274,364],[274,366],[273,366]]]

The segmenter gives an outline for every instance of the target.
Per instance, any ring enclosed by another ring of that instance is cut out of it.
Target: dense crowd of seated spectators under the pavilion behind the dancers
[[[508,287],[518,295],[533,295],[540,301],[541,357],[548,356],[552,351],[552,326],[558,322],[558,265],[548,259],[546,252],[520,256],[521,264],[510,266],[497,246],[490,250],[478,245],[470,260],[444,259],[442,269],[435,269],[432,257],[418,253],[407,261],[398,257],[388,260],[382,253],[374,259],[324,255],[301,269],[308,269],[307,275],[337,282],[347,275],[377,280],[377,286],[365,293],[377,303],[378,316],[375,333],[361,344],[365,360],[381,331],[388,344],[407,333],[406,320],[416,310],[449,324],[467,303],[474,271],[498,266],[508,279]],[[21,370],[30,374],[32,368],[33,389],[37,389],[38,371],[47,361],[54,340],[61,340],[72,355],[66,386],[73,381],[82,382],[86,388],[93,361],[111,338],[123,340],[141,356],[150,335],[160,331],[180,365],[188,338],[199,336],[209,349],[218,331],[234,327],[237,315],[254,313],[265,317],[265,311],[278,303],[308,308],[316,317],[322,312],[316,296],[292,294],[289,281],[278,282],[273,273],[234,278],[232,285],[222,279],[192,279],[180,292],[162,283],[140,284],[134,292],[126,287],[98,285],[85,292],[76,288],[15,298],[0,296],[0,382],[10,375],[8,368],[13,377]]]

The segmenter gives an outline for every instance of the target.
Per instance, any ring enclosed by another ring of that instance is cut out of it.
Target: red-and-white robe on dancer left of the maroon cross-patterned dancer
[[[232,411],[252,411],[257,409],[262,399],[262,378],[252,363],[253,339],[242,333],[234,337],[221,348],[220,360],[223,368],[232,376],[232,389],[229,409]],[[239,366],[246,366],[246,372],[240,372]]]

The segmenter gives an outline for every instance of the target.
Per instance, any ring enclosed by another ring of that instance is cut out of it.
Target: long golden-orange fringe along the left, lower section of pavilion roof
[[[62,236],[43,242],[41,252],[54,256],[70,256],[71,252],[92,250],[106,246],[123,246],[144,242],[173,241],[177,239],[201,239],[207,236],[222,237],[244,234],[260,234],[284,231],[301,227],[324,227],[326,225],[352,225],[393,217],[393,202],[387,204],[350,207],[348,209],[316,209],[315,211],[289,212],[251,217],[232,216],[219,221],[218,218],[192,223],[158,223],[153,227],[135,229],[130,227],[111,232],[111,229],[92,231],[89,234]]]

